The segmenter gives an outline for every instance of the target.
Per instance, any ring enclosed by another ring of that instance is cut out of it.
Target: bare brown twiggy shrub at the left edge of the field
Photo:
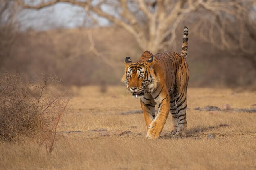
[[[38,75],[28,83],[25,75],[4,73],[0,78],[0,141],[40,135],[52,152],[56,128],[69,98],[55,76]]]

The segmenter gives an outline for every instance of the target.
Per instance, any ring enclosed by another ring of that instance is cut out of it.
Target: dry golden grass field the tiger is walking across
[[[96,86],[72,91],[53,152],[38,151],[37,139],[0,143],[1,170],[256,170],[256,113],[193,109],[251,108],[255,92],[189,88],[187,137],[170,137],[169,115],[159,139],[150,140],[144,117],[136,112],[139,100],[124,86],[106,93]],[[99,129],[107,131],[93,131]]]

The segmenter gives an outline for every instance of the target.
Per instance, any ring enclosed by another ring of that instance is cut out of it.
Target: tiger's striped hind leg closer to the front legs
[[[175,135],[178,129],[178,113],[176,99],[173,94],[170,95],[170,113],[173,117],[173,129],[171,135]]]

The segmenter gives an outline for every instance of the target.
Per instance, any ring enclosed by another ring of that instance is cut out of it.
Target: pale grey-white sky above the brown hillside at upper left
[[[66,3],[58,3],[40,10],[26,9],[20,13],[19,20],[22,30],[28,28],[47,30],[56,27],[74,28],[81,26],[84,17],[84,9]],[[99,21],[102,26],[108,24],[105,19],[99,18]]]

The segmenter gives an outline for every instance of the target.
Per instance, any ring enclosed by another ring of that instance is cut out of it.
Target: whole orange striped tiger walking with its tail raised
[[[172,115],[172,137],[186,137],[187,86],[189,66],[188,27],[184,27],[181,53],[162,52],[153,55],[145,51],[139,60],[125,58],[125,71],[121,81],[132,96],[140,99],[149,139],[157,139]],[[157,106],[157,114],[155,114]]]

